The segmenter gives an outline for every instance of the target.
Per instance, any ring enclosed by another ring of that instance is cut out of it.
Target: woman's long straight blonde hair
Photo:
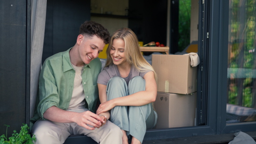
[[[108,57],[105,66],[113,64],[110,51],[113,45],[113,40],[118,38],[124,40],[125,42],[125,57],[127,62],[131,66],[134,66],[135,69],[137,69],[137,71],[139,72],[145,72],[148,70],[153,71],[155,80],[157,80],[157,75],[153,67],[147,62],[147,60],[145,60],[145,58],[140,52],[139,41],[137,36],[129,28],[118,29],[116,32],[113,33],[107,49]]]

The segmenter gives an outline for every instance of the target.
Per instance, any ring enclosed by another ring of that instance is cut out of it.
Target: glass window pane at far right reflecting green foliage
[[[227,123],[256,121],[256,2],[230,0]]]

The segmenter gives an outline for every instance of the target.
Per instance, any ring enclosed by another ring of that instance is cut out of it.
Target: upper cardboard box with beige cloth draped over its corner
[[[152,55],[157,73],[157,92],[189,94],[197,90],[197,67],[190,66],[189,55]]]

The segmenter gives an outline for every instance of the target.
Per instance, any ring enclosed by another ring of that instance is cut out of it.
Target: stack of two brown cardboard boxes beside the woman
[[[155,128],[194,126],[197,67],[189,55],[152,55],[152,66],[158,76]]]

